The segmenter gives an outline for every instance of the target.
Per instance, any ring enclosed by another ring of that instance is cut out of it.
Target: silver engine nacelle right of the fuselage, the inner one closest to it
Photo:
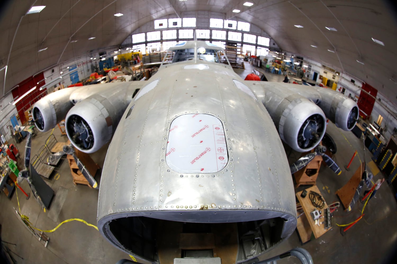
[[[312,150],[320,143],[326,130],[326,118],[320,107],[293,93],[284,98],[268,95],[264,105],[285,143],[299,152]]]

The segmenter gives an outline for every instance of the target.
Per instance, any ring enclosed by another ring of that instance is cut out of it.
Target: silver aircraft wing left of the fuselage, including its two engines
[[[36,127],[48,131],[65,119],[71,143],[83,152],[95,152],[110,141],[124,110],[145,84],[116,82],[50,93],[33,106]]]

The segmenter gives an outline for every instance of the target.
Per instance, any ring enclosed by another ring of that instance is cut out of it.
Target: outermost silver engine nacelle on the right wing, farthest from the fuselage
[[[318,88],[322,100],[318,104],[335,125],[349,131],[357,123],[358,105],[345,95],[326,88]]]

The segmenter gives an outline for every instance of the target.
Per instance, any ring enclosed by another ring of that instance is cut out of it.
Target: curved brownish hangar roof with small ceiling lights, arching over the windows
[[[0,68],[8,65],[4,86],[5,70],[0,71],[0,97],[50,66],[90,50],[120,45],[149,21],[184,11],[214,11],[224,13],[224,19],[249,21],[267,32],[283,51],[352,74],[397,102],[396,13],[395,6],[387,6],[393,1],[250,0],[251,7],[244,6],[245,2],[9,0],[2,4],[0,20]],[[31,6],[46,8],[27,14]],[[241,11],[233,13],[233,9]],[[116,17],[116,13],[123,16]],[[95,38],[89,40],[91,37]],[[45,50],[38,52],[40,49]]]

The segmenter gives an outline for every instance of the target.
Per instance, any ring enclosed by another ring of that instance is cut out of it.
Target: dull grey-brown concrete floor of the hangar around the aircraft
[[[236,70],[242,77],[252,71],[252,66],[246,63],[245,70]],[[281,82],[282,75],[266,75],[269,81]],[[37,153],[40,146],[48,137],[51,131],[46,133],[38,132],[32,140],[32,156]],[[67,141],[62,136],[58,127],[53,131],[58,141]],[[317,186],[321,190],[327,203],[338,201],[335,191],[341,188],[353,175],[360,161],[364,160],[362,140],[355,137],[351,132],[346,132],[335,127],[333,123],[328,124],[327,133],[331,135],[337,144],[337,153],[334,160],[339,167],[347,165],[354,151],[358,156],[351,164],[351,170],[342,169],[341,175],[335,175],[330,169],[321,167],[317,179]],[[17,144],[19,150],[24,152],[25,141]],[[93,160],[102,167],[108,145],[103,146],[99,151],[91,154]],[[289,162],[292,163],[299,158],[299,153],[292,151],[285,146],[289,154]],[[366,161],[371,161],[371,154],[365,150]],[[23,167],[23,158],[19,160],[19,168]],[[70,169],[64,159],[58,166],[55,175],[50,180],[44,179],[54,190],[55,196],[50,210],[44,212],[40,209],[33,197],[26,200],[21,192],[18,192],[21,213],[29,217],[30,222],[39,229],[50,230],[63,220],[69,218],[81,218],[96,225],[98,190],[88,188],[85,185],[75,186],[72,182]],[[380,179],[382,173],[374,176]],[[99,182],[97,175],[96,180]],[[22,188],[31,192],[27,182],[21,184]],[[327,190],[330,190],[328,192]],[[58,230],[49,233],[50,242],[45,248],[31,233],[21,224],[13,208],[18,209],[17,195],[13,194],[11,199],[6,198],[4,193],[0,194],[0,224],[2,224],[2,240],[14,243],[5,244],[13,253],[21,256],[19,258],[11,253],[17,263],[116,263],[122,258],[129,256],[108,243],[94,228],[86,226],[81,222],[68,222]],[[346,224],[360,216],[362,204],[358,203],[351,212],[343,211],[342,207],[334,213],[332,218],[332,230],[322,237],[301,245],[297,232],[294,232],[289,239],[278,247],[261,257],[272,257],[295,247],[303,247],[308,250],[315,263],[372,263],[382,262],[389,254],[394,253],[397,241],[397,204],[391,190],[391,186],[385,182],[378,192],[376,198],[368,203],[364,213],[365,216],[353,228],[348,230],[344,236],[340,233],[338,224]],[[390,260],[384,260],[389,262]],[[279,260],[278,263],[298,263],[296,258],[289,257]]]

